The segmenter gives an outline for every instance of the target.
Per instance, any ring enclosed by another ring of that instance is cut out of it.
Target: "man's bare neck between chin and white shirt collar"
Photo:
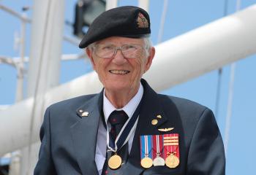
[[[130,88],[129,90],[108,90],[105,89],[105,96],[116,107],[120,109],[124,107],[128,102],[138,93],[140,84],[136,88]]]

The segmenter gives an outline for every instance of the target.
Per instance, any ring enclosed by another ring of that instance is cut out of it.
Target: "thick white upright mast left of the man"
[[[34,0],[31,23],[31,49],[29,59],[28,90],[33,96],[29,114],[29,147],[22,149],[21,174],[33,174],[39,144],[33,138],[39,136],[37,123],[41,123],[45,110],[44,94],[59,84],[59,68],[64,28],[64,1]]]

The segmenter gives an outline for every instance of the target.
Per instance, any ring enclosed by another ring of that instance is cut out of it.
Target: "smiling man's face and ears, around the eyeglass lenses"
[[[136,58],[125,58],[121,50],[116,50],[116,54],[111,58],[99,57],[96,52],[96,48],[102,45],[121,47],[124,44],[140,45],[142,48],[135,54]],[[86,52],[105,90],[130,91],[138,90],[140,78],[150,68],[154,58],[154,47],[149,50],[148,56],[144,47],[143,39],[113,36],[100,40],[92,51],[87,49]]]

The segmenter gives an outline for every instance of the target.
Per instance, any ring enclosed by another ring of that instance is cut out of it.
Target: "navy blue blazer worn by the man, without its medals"
[[[224,175],[225,152],[213,112],[206,106],[173,96],[157,94],[148,83],[135,130],[129,158],[118,170],[123,175]],[[40,130],[42,141],[34,175],[97,175],[94,161],[99,120],[102,120],[103,93],[80,96],[48,107]],[[82,117],[81,110],[89,112]],[[161,115],[157,125],[151,120]],[[159,128],[174,128],[162,132]],[[178,133],[180,163],[167,166],[140,166],[140,136]]]

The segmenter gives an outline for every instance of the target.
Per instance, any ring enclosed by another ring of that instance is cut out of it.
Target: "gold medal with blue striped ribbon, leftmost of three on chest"
[[[153,165],[153,160],[151,159],[151,136],[140,136],[140,150],[140,165],[143,168],[150,168]]]

